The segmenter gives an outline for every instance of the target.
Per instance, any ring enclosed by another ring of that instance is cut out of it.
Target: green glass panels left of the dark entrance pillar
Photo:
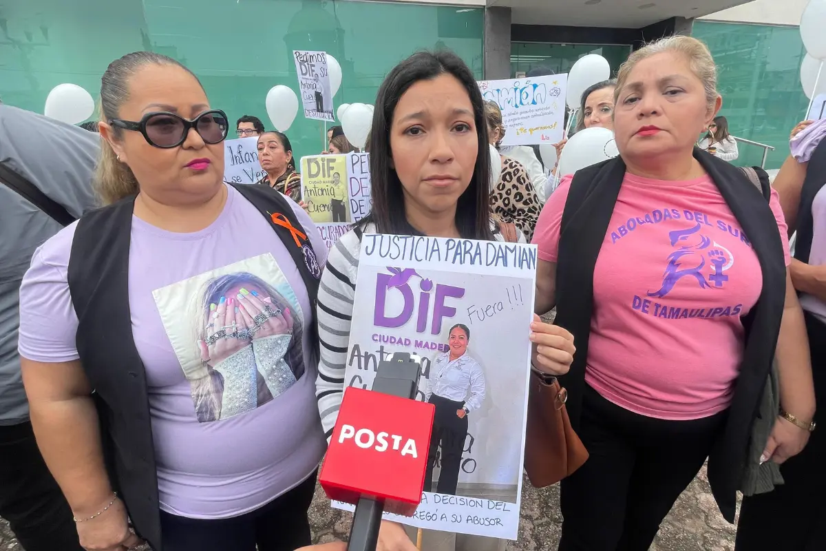
[[[401,24],[403,21],[403,24]],[[59,83],[97,101],[113,59],[153,50],[186,64],[231,123],[258,116],[269,88],[297,91],[292,50],[341,64],[335,106],[373,103],[382,79],[417,50],[446,47],[482,78],[484,9],[350,0],[0,0],[0,97],[43,112]],[[323,122],[301,113],[287,135],[297,156],[326,148]]]

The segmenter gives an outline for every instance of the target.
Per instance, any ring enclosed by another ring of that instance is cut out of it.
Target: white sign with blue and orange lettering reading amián
[[[496,102],[505,123],[502,145],[556,144],[563,139],[567,74],[482,80],[482,98]]]

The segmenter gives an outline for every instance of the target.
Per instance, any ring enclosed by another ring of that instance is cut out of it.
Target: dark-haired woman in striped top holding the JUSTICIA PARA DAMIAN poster
[[[398,64],[379,89],[370,137],[373,210],[330,251],[318,299],[321,360],[316,396],[330,436],[344,393],[358,255],[364,233],[429,235],[524,242],[515,228],[491,220],[490,150],[482,94],[462,59],[418,53]],[[504,231],[503,231],[504,230]],[[565,373],[573,359],[566,330],[534,316],[533,362]],[[399,525],[384,523],[387,549],[415,546]],[[430,551],[504,549],[504,541],[425,530]]]

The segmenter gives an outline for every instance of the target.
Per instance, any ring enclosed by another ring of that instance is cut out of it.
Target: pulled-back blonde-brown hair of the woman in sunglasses
[[[121,59],[115,59],[106,69],[101,78],[100,120],[109,123],[118,118],[121,106],[129,99],[129,80],[145,65],[175,65],[189,74],[192,71],[166,55],[154,52],[133,52]],[[194,74],[192,74],[195,77]],[[197,80],[197,77],[195,77]],[[121,128],[112,127],[112,135],[120,138]],[[120,201],[124,197],[135,195],[139,191],[135,174],[126,163],[117,159],[112,145],[107,140],[101,140],[101,154],[97,160],[94,187],[104,205]]]

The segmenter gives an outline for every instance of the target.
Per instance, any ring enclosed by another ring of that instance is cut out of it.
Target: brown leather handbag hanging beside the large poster
[[[571,427],[566,400],[567,392],[557,378],[531,369],[525,472],[534,487],[556,484],[588,458],[588,450]]]

